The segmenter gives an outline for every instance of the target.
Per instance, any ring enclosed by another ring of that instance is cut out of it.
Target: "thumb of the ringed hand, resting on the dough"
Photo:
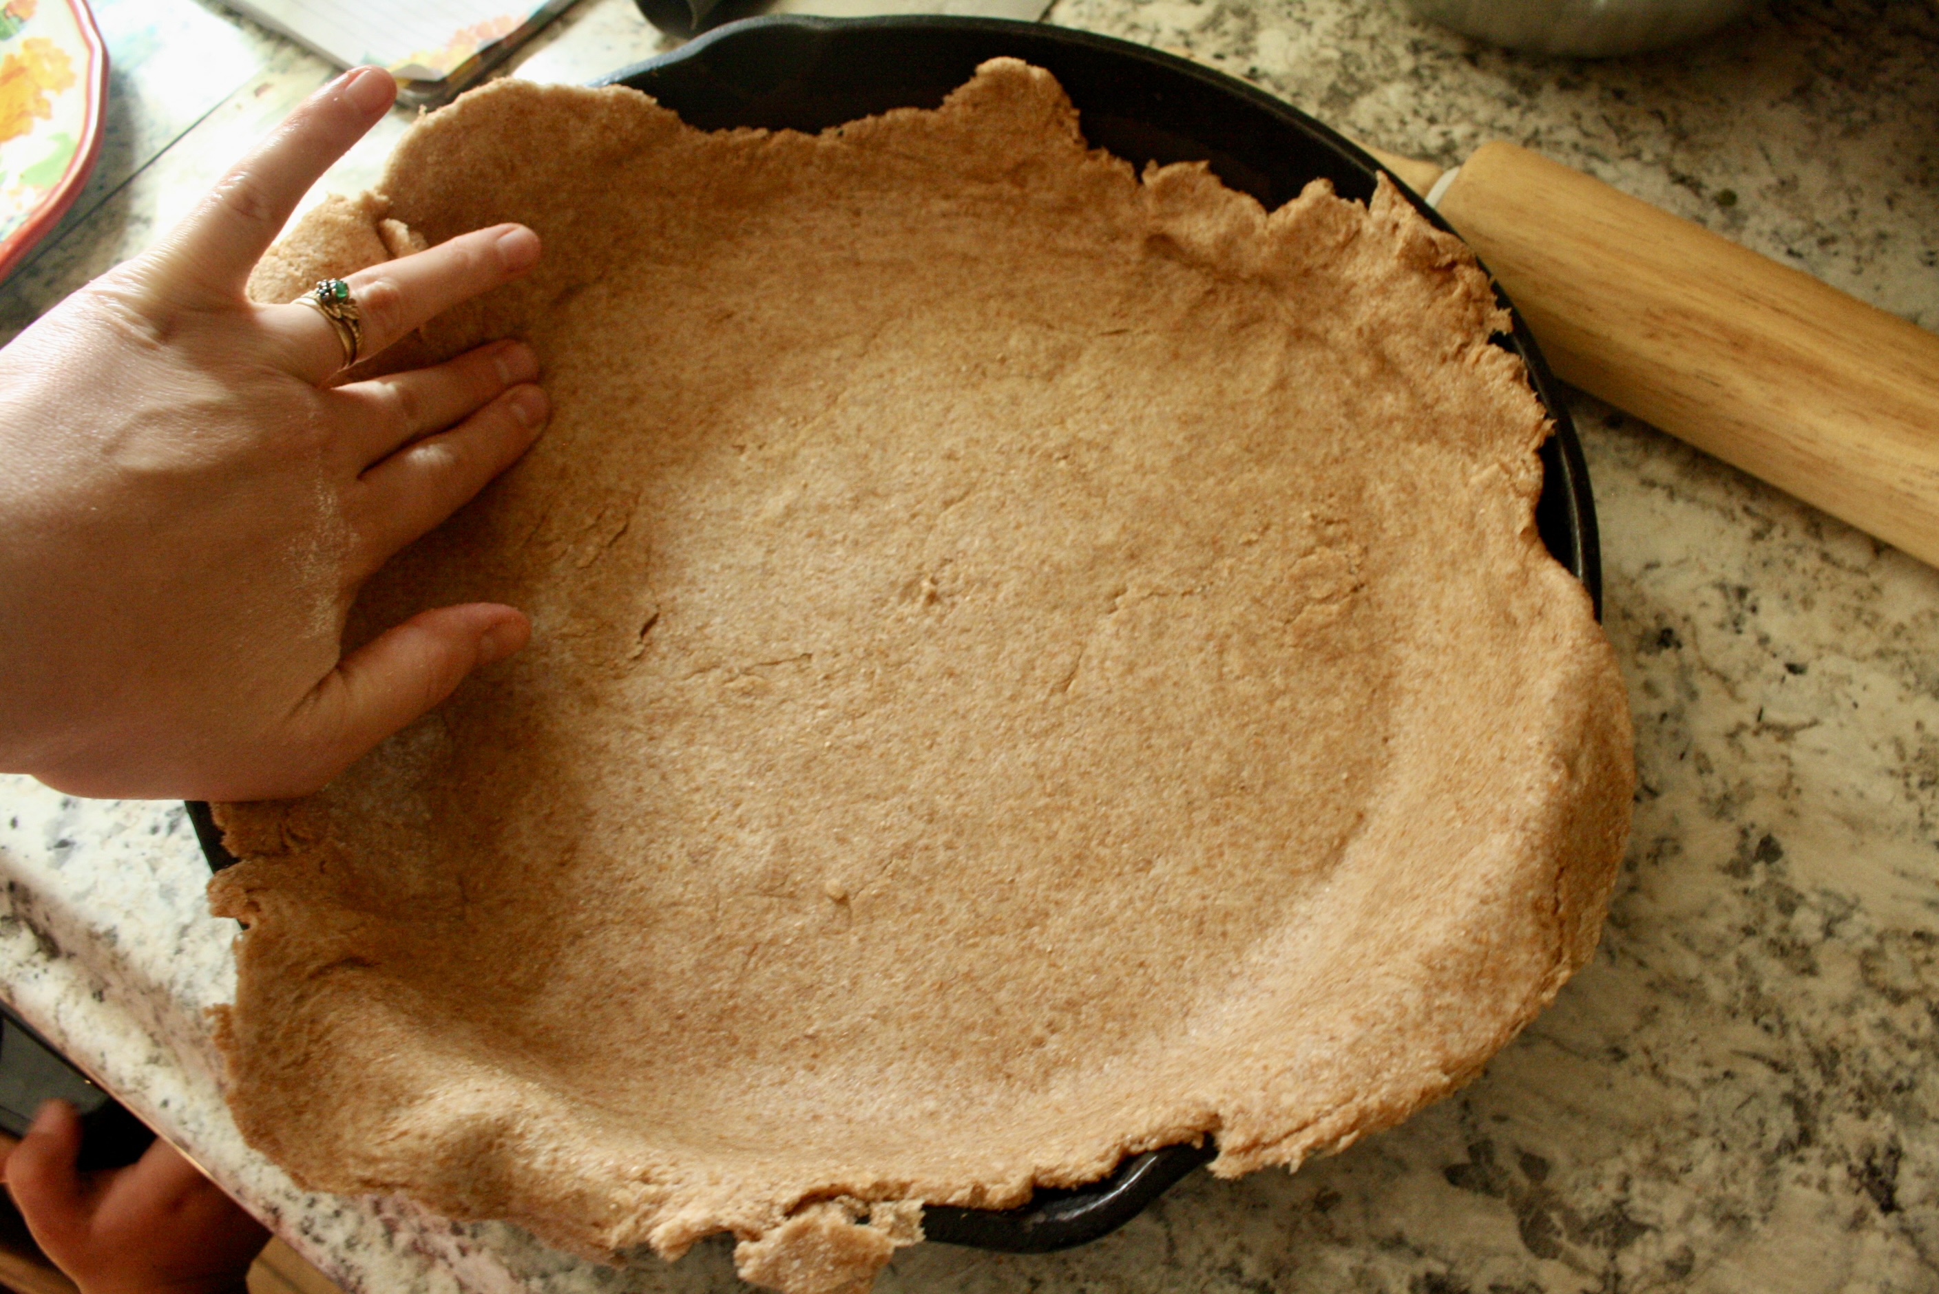
[[[275,794],[316,790],[353,759],[452,695],[465,674],[510,657],[531,639],[514,606],[467,602],[411,616],[337,662],[297,713],[295,742],[308,752]]]

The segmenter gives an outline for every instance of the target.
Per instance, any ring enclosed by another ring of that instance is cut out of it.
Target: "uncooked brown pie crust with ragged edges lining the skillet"
[[[524,221],[413,356],[518,333],[556,413],[349,628],[531,647],[221,810],[229,1102],[301,1184],[859,1290],[923,1203],[1338,1151],[1590,955],[1623,686],[1392,188],[1138,176],[997,60],[820,136],[502,81],[382,192],[258,298]]]

